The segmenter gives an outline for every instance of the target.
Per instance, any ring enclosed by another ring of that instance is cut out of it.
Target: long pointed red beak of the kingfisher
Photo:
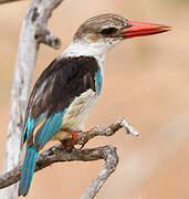
[[[170,27],[161,25],[161,24],[128,21],[128,27],[120,32],[120,35],[124,39],[127,39],[127,38],[144,36],[150,34],[158,34],[161,32],[167,32],[170,29],[171,29]]]

